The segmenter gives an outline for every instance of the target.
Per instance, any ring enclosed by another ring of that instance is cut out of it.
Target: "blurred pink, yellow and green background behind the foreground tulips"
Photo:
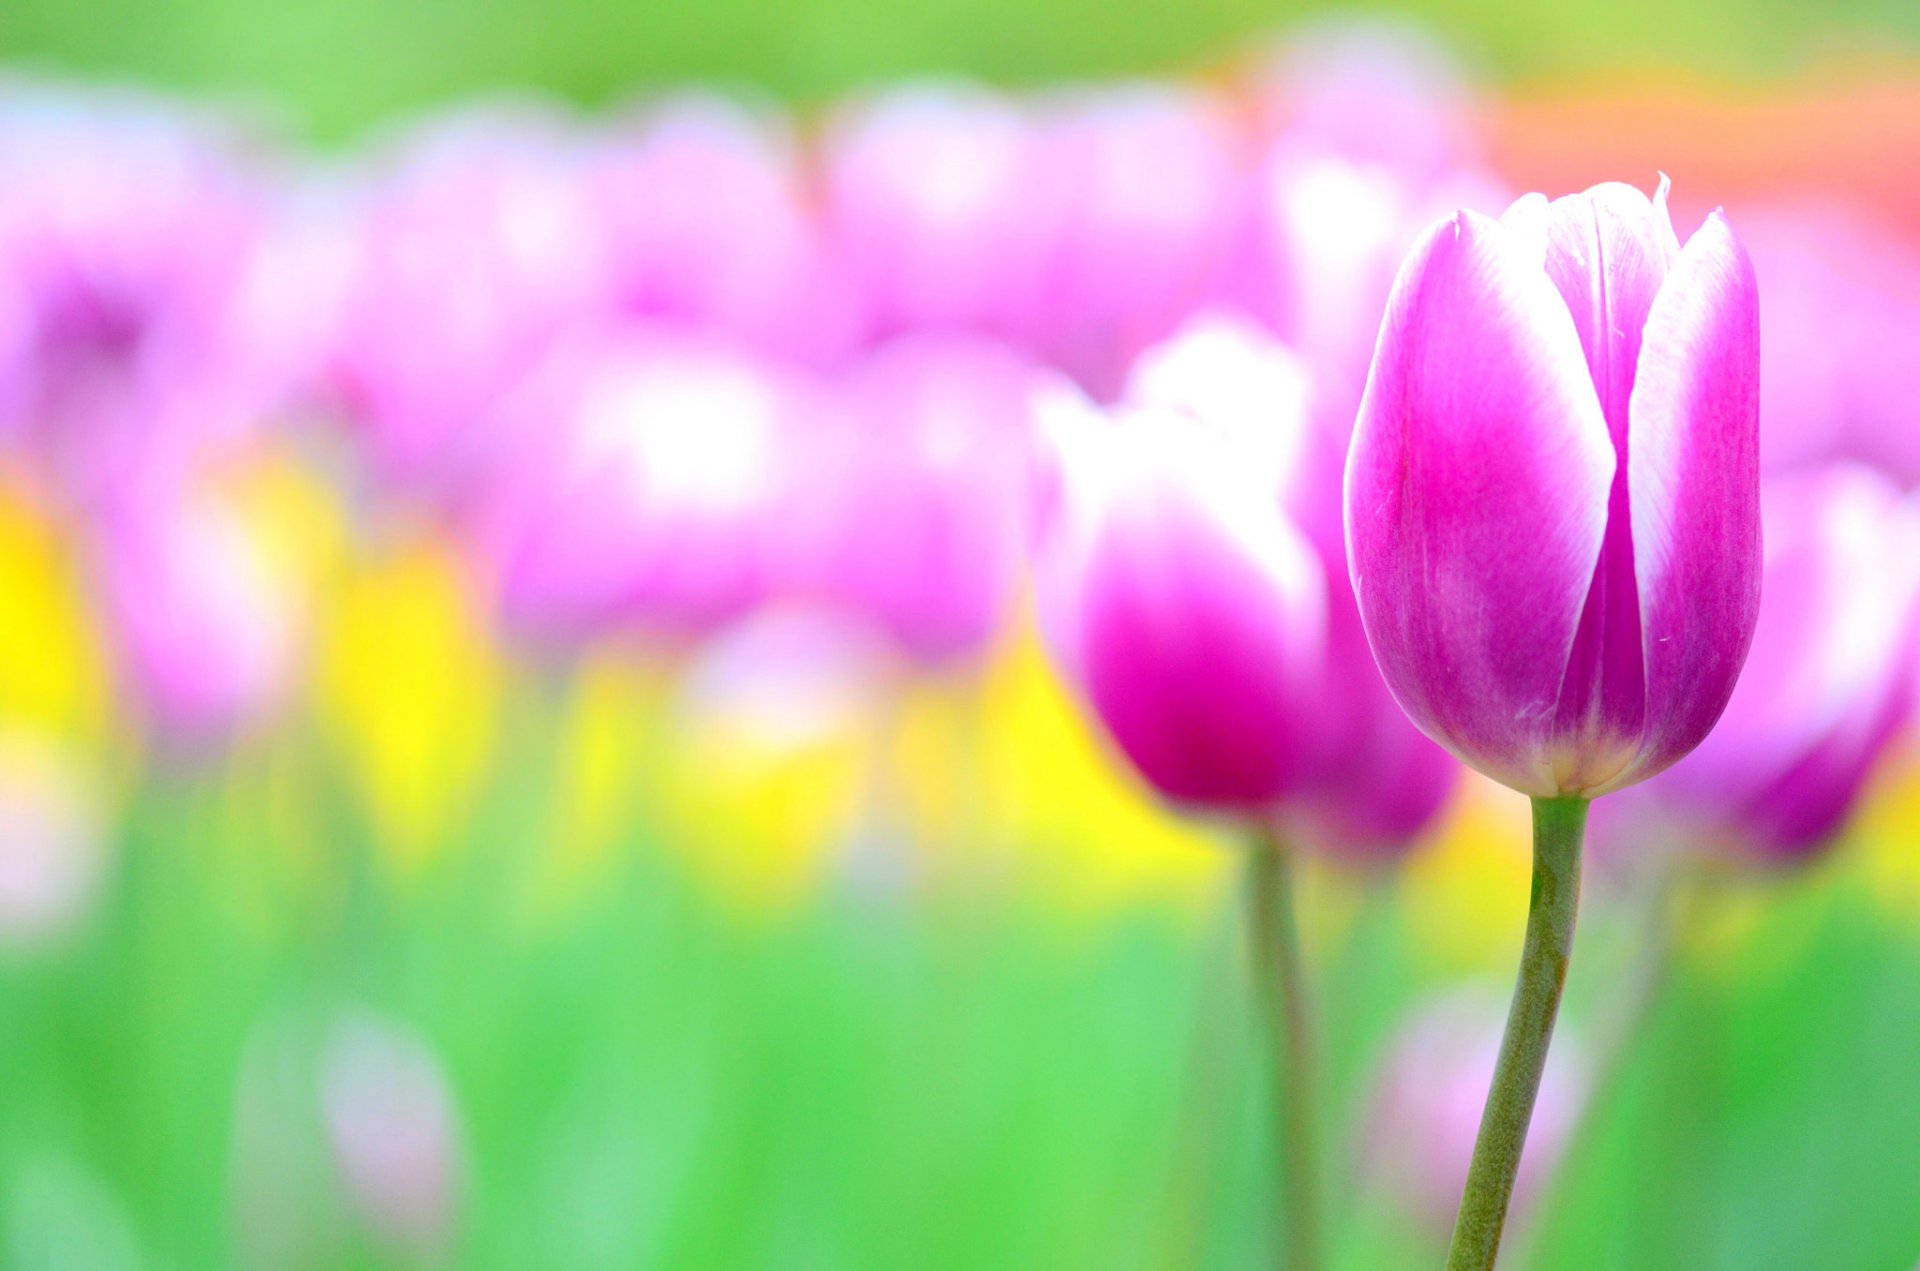
[[[1427,219],[1667,173],[1786,298],[1772,465],[1907,490],[1916,58],[1868,2],[8,0],[0,1263],[1267,1259],[1236,833],[1046,657],[1020,376],[1225,307],[1352,392]],[[1043,123],[1064,180],[900,228]],[[1791,860],[1599,852],[1511,1265],[1920,1259],[1880,720]],[[1334,1265],[1438,1261],[1524,904],[1465,776],[1309,854]]]

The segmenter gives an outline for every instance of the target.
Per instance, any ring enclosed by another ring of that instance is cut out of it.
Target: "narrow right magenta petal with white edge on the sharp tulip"
[[[1645,733],[1615,787],[1692,751],[1720,718],[1761,603],[1759,298],[1718,211],[1647,315],[1628,490]]]

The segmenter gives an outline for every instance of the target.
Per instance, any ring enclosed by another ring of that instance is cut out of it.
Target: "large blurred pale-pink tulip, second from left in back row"
[[[472,474],[499,399],[605,323],[609,246],[582,144],[543,117],[474,113],[403,138],[361,196],[334,380],[382,476]]]

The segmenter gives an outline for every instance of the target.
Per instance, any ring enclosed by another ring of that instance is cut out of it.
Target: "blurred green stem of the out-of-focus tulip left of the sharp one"
[[[1306,977],[1294,927],[1294,852],[1261,827],[1246,858],[1246,939],[1254,1012],[1265,1035],[1273,1131],[1286,1185],[1286,1248],[1292,1271],[1319,1267],[1319,1206],[1313,1154],[1313,1056]]]

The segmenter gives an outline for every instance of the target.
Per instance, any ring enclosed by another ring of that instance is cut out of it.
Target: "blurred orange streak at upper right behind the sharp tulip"
[[[1524,190],[1651,186],[1665,171],[1676,221],[1715,204],[1822,196],[1920,240],[1920,61],[1830,67],[1786,88],[1678,77],[1517,88],[1490,104],[1484,127],[1496,171]]]

